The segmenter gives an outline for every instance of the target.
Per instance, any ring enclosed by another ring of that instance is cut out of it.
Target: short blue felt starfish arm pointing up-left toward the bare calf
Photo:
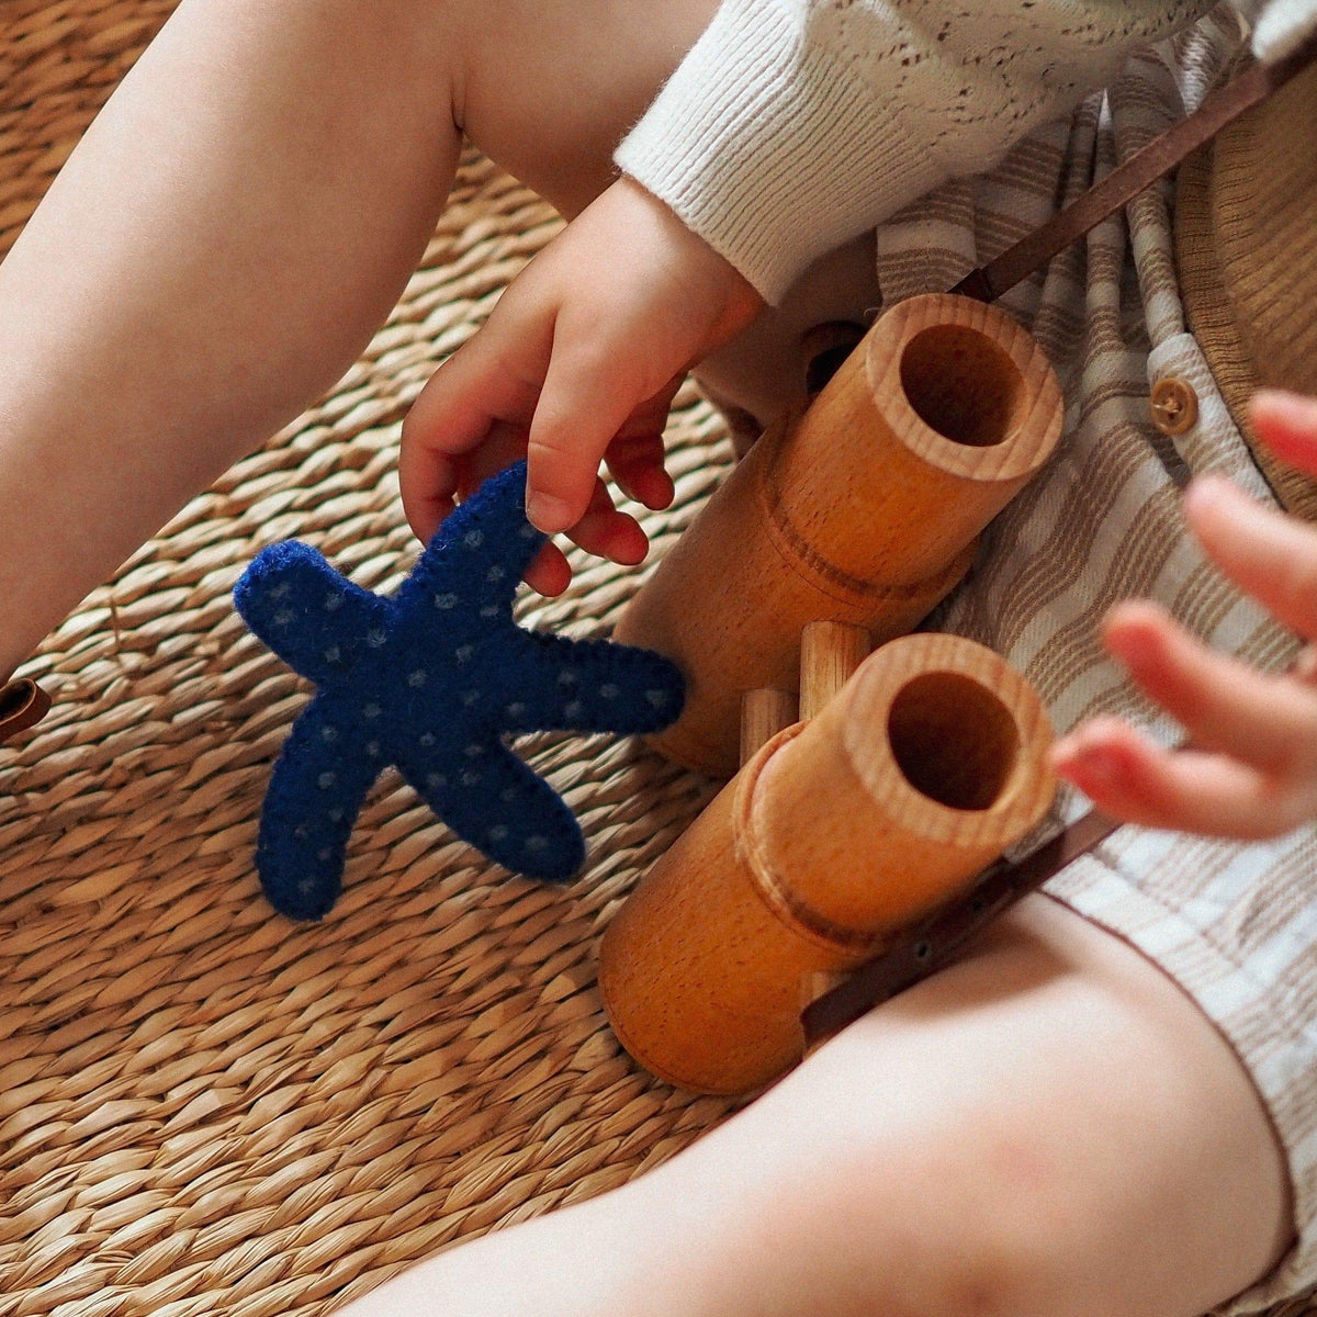
[[[233,590],[242,620],[317,686],[382,645],[390,603],[354,586],[298,540],[262,549]]]

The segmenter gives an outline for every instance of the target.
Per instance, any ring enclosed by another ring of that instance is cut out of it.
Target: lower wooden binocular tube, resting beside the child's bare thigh
[[[917,635],[776,736],[641,880],[603,938],[626,1048],[740,1093],[801,1059],[802,993],[959,896],[1051,802],[1051,730],[992,651]]]

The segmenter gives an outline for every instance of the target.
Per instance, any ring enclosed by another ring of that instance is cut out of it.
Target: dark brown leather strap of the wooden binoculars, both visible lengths
[[[1195,113],[1135,151],[1119,169],[1059,211],[1042,228],[971,271],[951,291],[979,302],[994,302],[1312,63],[1317,63],[1317,38],[1277,63],[1251,65],[1208,95]],[[1062,828],[1025,859],[1014,863],[998,860],[975,880],[964,897],[943,907],[809,1005],[801,1014],[806,1044],[813,1047],[820,1043],[872,1008],[948,964],[984,925],[1094,849],[1119,826],[1115,819],[1093,810]]]

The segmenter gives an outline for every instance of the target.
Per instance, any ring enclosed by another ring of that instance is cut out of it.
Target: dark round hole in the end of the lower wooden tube
[[[931,672],[892,701],[888,743],[905,780],[954,810],[986,810],[1001,798],[1019,755],[1006,706],[971,677]]]

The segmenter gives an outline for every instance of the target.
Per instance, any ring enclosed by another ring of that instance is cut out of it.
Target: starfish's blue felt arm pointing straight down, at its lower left
[[[270,905],[320,919],[342,888],[344,856],[361,803],[382,766],[379,747],[340,726],[315,699],[292,724],[261,811],[255,863]]]

